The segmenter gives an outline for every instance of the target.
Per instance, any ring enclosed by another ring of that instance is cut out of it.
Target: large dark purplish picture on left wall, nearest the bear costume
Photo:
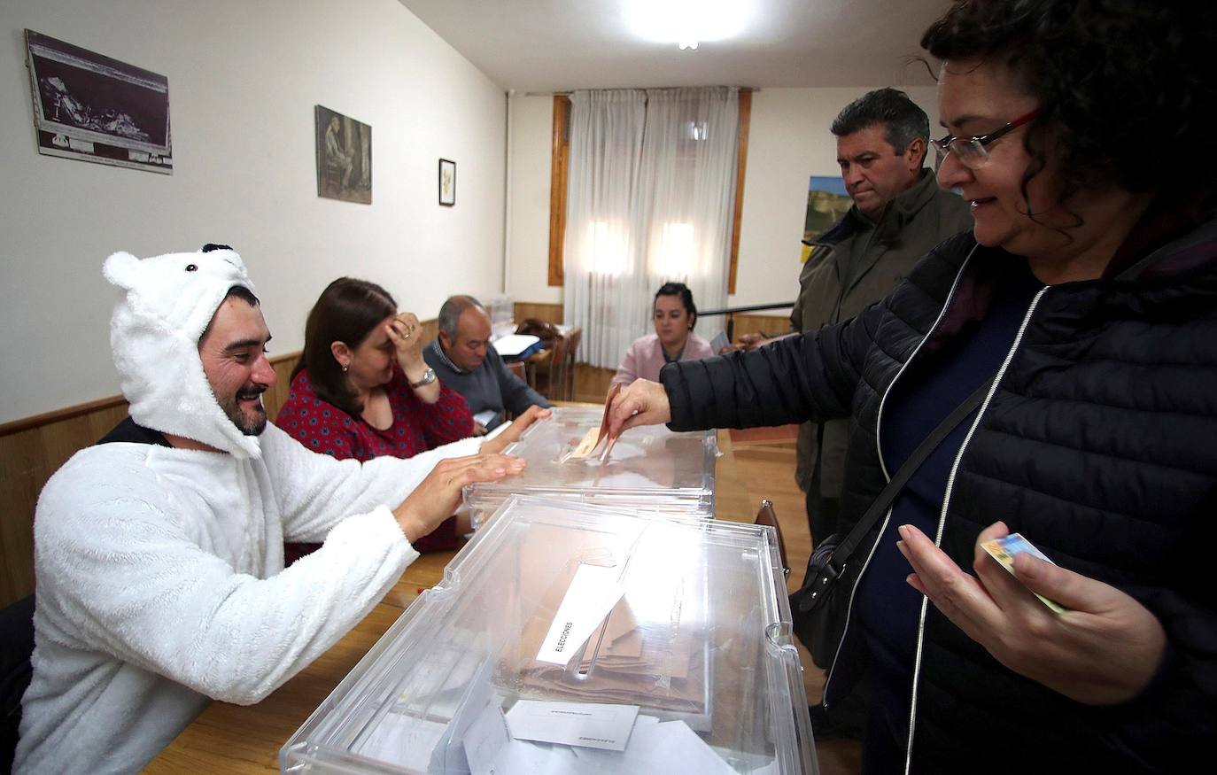
[[[173,173],[169,79],[26,30],[38,152]]]

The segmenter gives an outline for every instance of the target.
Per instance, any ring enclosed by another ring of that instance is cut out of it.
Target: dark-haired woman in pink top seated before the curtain
[[[655,292],[652,320],[655,333],[634,339],[613,375],[612,384],[626,386],[634,380],[657,382],[664,364],[714,354],[710,342],[692,332],[697,324],[697,305],[692,303],[692,292],[685,283],[664,282]]]

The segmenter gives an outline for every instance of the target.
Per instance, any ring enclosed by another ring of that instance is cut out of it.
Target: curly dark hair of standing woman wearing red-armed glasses
[[[1213,0],[957,0],[921,36],[937,60],[999,61],[1039,116],[1032,164],[1061,168],[1061,201],[1094,182],[1211,201]],[[1205,106],[1208,106],[1207,108]]]

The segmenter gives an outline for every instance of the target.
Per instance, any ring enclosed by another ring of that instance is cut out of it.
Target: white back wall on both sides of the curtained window
[[[840,174],[829,125],[842,107],[874,88],[762,89],[752,95],[740,263],[729,305],[790,302],[797,296],[808,178]],[[937,135],[933,86],[905,91],[929,113],[931,135]],[[517,96],[511,103],[507,287],[517,301],[561,302],[562,290],[546,285],[553,97]]]

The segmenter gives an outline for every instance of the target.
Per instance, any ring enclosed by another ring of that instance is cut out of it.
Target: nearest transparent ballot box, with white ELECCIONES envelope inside
[[[773,528],[507,499],[291,773],[815,773]]]

